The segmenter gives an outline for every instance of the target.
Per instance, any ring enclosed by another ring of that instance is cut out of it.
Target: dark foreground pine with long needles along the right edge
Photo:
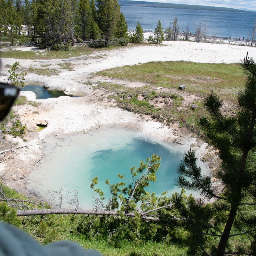
[[[204,102],[211,118],[200,119],[206,140],[220,155],[217,178],[223,184],[223,191],[218,194],[211,176],[201,174],[192,150],[185,154],[178,169],[180,176],[176,181],[180,187],[215,199],[211,204],[204,204],[202,199],[191,196],[172,198],[186,220],[180,220],[179,225],[185,225],[190,233],[190,255],[256,255],[256,63],[246,56],[241,67],[248,77],[245,89],[238,93],[236,115],[225,116],[223,101],[211,93]],[[211,244],[207,244],[206,236],[212,236]],[[232,244],[230,239],[236,236],[247,236],[250,244],[244,244],[243,240],[239,244],[238,238]]]

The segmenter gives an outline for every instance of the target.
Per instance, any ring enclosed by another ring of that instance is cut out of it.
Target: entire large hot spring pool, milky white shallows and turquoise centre
[[[180,164],[186,146],[167,143],[131,129],[112,128],[92,134],[72,136],[60,140],[44,140],[46,156],[25,179],[29,191],[48,200],[54,198],[52,191],[62,189],[78,191],[79,208],[91,208],[93,204],[91,180],[99,177],[100,188],[106,198],[109,187],[105,185],[120,182],[117,174],[131,178],[130,168],[138,167],[140,161],[152,154],[161,156],[161,166],[156,173],[157,181],[148,187],[150,193],[161,194],[165,190],[171,195],[180,189],[174,185],[176,169]],[[57,195],[55,194],[55,197]],[[58,197],[58,196],[57,196]],[[67,205],[62,205],[67,207]]]

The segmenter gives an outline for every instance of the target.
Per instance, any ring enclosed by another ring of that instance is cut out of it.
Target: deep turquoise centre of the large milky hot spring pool
[[[152,154],[161,156],[161,166],[157,172],[157,182],[152,182],[148,191],[161,194],[164,190],[170,190],[174,187],[176,177],[176,168],[182,158],[181,152],[172,152],[170,149],[163,147],[160,143],[153,142],[145,138],[134,138],[127,143],[124,148],[113,150],[100,150],[92,157],[94,165],[92,173],[100,177],[99,187],[105,186],[105,180],[109,179],[110,183],[118,182],[116,174],[125,174],[126,179],[131,179],[130,168],[139,167],[140,161],[146,159]],[[172,159],[170,161],[170,159]],[[114,165],[114,167],[113,167]],[[102,172],[104,170],[104,172]]]

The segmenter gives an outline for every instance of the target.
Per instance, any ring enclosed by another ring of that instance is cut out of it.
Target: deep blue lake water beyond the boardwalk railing
[[[251,34],[255,25],[256,13],[253,12],[221,12],[221,11],[203,11],[186,10],[171,8],[152,8],[121,6],[129,29],[135,29],[137,22],[146,30],[155,30],[157,22],[160,20],[163,30],[170,26],[174,18],[178,18],[180,32],[187,30],[196,32],[196,26],[201,22],[204,25],[207,22],[207,35],[223,37],[235,37],[251,39]]]

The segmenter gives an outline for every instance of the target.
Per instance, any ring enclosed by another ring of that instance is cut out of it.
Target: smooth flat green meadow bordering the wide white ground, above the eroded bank
[[[148,62],[103,70],[97,74],[128,81],[139,81],[155,87],[177,89],[186,85],[186,92],[199,94],[213,90],[224,100],[235,100],[244,87],[246,76],[239,64],[209,64],[186,61]]]

